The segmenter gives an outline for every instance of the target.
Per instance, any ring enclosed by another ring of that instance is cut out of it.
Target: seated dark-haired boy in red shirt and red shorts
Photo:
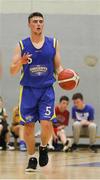
[[[53,139],[57,141],[61,140],[63,143],[63,151],[67,151],[71,146],[71,140],[66,137],[65,128],[69,123],[69,111],[67,110],[69,104],[69,98],[67,96],[62,96],[60,98],[59,104],[55,107],[56,118],[53,118]],[[49,141],[49,149],[52,147],[52,138]]]

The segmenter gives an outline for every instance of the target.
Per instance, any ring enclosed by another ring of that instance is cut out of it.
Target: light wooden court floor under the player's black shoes
[[[0,179],[100,179],[100,151],[50,152],[49,159],[46,167],[25,173],[26,152],[0,151]]]

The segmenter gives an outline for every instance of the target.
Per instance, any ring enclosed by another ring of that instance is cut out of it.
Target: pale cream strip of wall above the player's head
[[[100,14],[100,0],[0,0],[0,13]]]

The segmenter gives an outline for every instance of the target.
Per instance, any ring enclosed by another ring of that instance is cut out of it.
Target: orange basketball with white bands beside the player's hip
[[[58,75],[58,83],[62,89],[72,90],[79,84],[79,75],[72,69],[64,69]]]

